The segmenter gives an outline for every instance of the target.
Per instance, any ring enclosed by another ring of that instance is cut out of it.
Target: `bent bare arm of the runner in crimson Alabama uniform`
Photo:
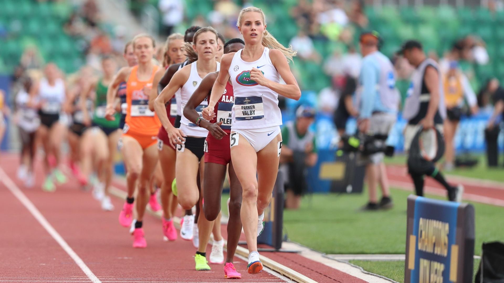
[[[217,76],[218,72],[209,73],[205,76],[205,78],[201,81],[200,86],[194,91],[191,98],[185,104],[183,114],[191,122],[196,124],[198,118],[200,118],[200,114],[196,111],[196,107],[198,107],[198,105],[200,105],[212,91],[212,87],[217,79]],[[220,125],[222,125],[222,122],[214,124],[205,119],[201,119],[199,126],[209,130],[215,138],[221,139],[227,133],[221,129]]]

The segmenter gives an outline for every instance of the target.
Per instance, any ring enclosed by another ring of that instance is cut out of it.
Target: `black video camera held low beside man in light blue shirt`
[[[394,156],[395,148],[393,146],[385,145],[387,135],[384,134],[364,134],[358,132],[354,135],[344,134],[341,136],[343,148],[345,153],[359,152],[364,156],[372,155],[375,153],[383,152],[385,156]]]

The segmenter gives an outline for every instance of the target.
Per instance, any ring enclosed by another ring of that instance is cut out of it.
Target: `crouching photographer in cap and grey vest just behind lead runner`
[[[296,110],[296,120],[282,127],[282,152],[280,170],[285,173],[285,207],[297,209],[301,196],[307,191],[307,169],[317,163],[315,134],[308,130],[313,123],[315,109],[301,105]]]

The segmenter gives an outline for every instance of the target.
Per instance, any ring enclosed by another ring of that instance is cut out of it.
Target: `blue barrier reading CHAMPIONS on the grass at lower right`
[[[474,207],[408,197],[405,283],[471,282]]]

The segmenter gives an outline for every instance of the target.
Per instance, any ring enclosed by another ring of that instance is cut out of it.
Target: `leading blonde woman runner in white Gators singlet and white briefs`
[[[257,236],[264,227],[264,209],[271,201],[282,147],[278,95],[298,100],[301,91],[287,62],[296,52],[268,33],[263,11],[255,7],[241,10],[236,25],[245,48],[222,57],[203,117],[215,117],[214,107],[231,79],[235,99],[229,136],[231,160],[243,188],[241,222],[250,252],[248,273],[258,273],[263,265]],[[285,85],[280,84],[280,78]]]

